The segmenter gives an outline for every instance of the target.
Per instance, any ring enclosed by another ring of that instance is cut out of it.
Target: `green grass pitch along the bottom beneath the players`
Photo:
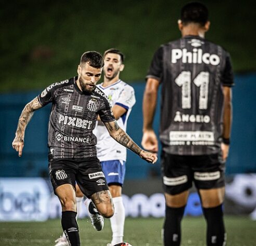
[[[133,246],[161,246],[163,218],[126,218],[126,242]],[[256,221],[245,216],[226,216],[227,245],[256,245]],[[93,229],[88,218],[79,219],[82,246],[106,246],[111,239],[109,220],[102,231]],[[182,246],[203,246],[206,223],[203,217],[185,217],[182,223]],[[46,222],[1,222],[0,245],[49,246],[62,234],[60,220]]]

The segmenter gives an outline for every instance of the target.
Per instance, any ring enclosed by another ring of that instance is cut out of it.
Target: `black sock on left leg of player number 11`
[[[166,207],[164,222],[164,246],[180,246],[181,244],[181,220],[185,206],[181,208]]]

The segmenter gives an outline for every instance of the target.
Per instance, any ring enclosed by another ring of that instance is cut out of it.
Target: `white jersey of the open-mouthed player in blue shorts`
[[[103,83],[97,85],[97,87],[107,95],[110,105],[113,107],[117,104],[127,110],[126,113],[117,120],[118,125],[126,132],[127,119],[136,102],[134,89],[120,79],[107,87],[103,87],[102,84]],[[93,133],[97,137],[97,157],[100,161],[126,161],[126,148],[111,138],[107,128],[101,122],[98,123]]]

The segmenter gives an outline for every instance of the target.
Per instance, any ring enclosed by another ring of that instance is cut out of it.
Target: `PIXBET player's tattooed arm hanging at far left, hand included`
[[[14,141],[12,142],[12,147],[16,149],[17,152],[19,152],[19,156],[22,155],[22,149],[24,146],[25,128],[27,127],[31,117],[33,116],[34,111],[38,110],[41,107],[43,106],[36,97],[27,105],[25,105],[23,111],[21,112],[16,131],[16,136]]]

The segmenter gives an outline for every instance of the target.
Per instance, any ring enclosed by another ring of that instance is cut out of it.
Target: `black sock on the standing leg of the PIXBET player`
[[[76,223],[76,212],[62,212],[61,226],[71,246],[80,246],[78,223]]]

